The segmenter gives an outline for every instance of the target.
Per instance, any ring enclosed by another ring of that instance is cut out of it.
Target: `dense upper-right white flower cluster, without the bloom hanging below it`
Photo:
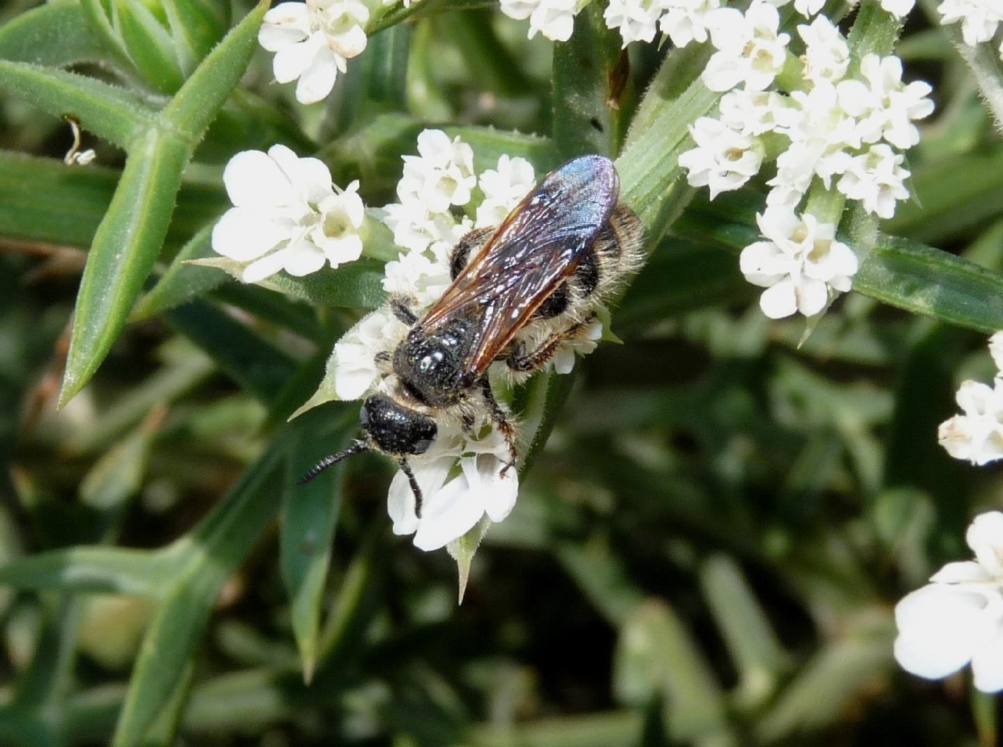
[[[824,16],[797,27],[804,44],[799,89],[767,90],[787,64],[787,34],[778,32],[776,9],[755,0],[743,15],[722,8],[710,35],[717,52],[702,78],[712,90],[728,91],[720,116],[690,126],[696,148],[679,164],[694,187],[708,186],[711,198],[741,187],[758,173],[765,152],[761,137],[783,137],[776,159],[770,206],[794,208],[817,181],[859,200],[871,213],[890,218],[897,200],[909,195],[905,151],[919,142],[913,123],[933,111],[924,82],[905,84],[902,61],[867,54],[859,77],[848,78],[850,48]],[[741,88],[736,86],[741,85]]]

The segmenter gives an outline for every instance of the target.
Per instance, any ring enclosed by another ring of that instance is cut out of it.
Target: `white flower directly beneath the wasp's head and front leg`
[[[446,481],[459,460],[459,474]],[[516,505],[519,473],[501,474],[509,447],[493,429],[480,440],[440,427],[432,447],[408,462],[421,488],[421,518],[414,512],[414,493],[402,472],[390,483],[387,513],[394,534],[414,534],[415,547],[436,550],[459,539],[486,514],[505,519]]]

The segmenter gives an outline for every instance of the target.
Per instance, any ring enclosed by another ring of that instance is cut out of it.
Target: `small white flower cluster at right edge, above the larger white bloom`
[[[938,431],[948,454],[977,465],[1003,459],[1003,331],[989,338],[989,352],[996,363],[993,386],[963,382],[956,399],[964,415],[944,421]]]

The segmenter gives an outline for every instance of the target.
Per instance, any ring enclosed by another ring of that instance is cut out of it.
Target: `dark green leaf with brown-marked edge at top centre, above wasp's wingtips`
[[[571,39],[554,45],[554,142],[567,159],[613,157],[626,130],[620,105],[629,80],[627,50],[607,28],[605,3],[590,3],[575,18]]]

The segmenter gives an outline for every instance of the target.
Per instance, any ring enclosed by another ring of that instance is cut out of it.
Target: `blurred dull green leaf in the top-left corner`
[[[0,26],[0,58],[49,67],[98,62],[109,57],[76,2],[50,2]]]

